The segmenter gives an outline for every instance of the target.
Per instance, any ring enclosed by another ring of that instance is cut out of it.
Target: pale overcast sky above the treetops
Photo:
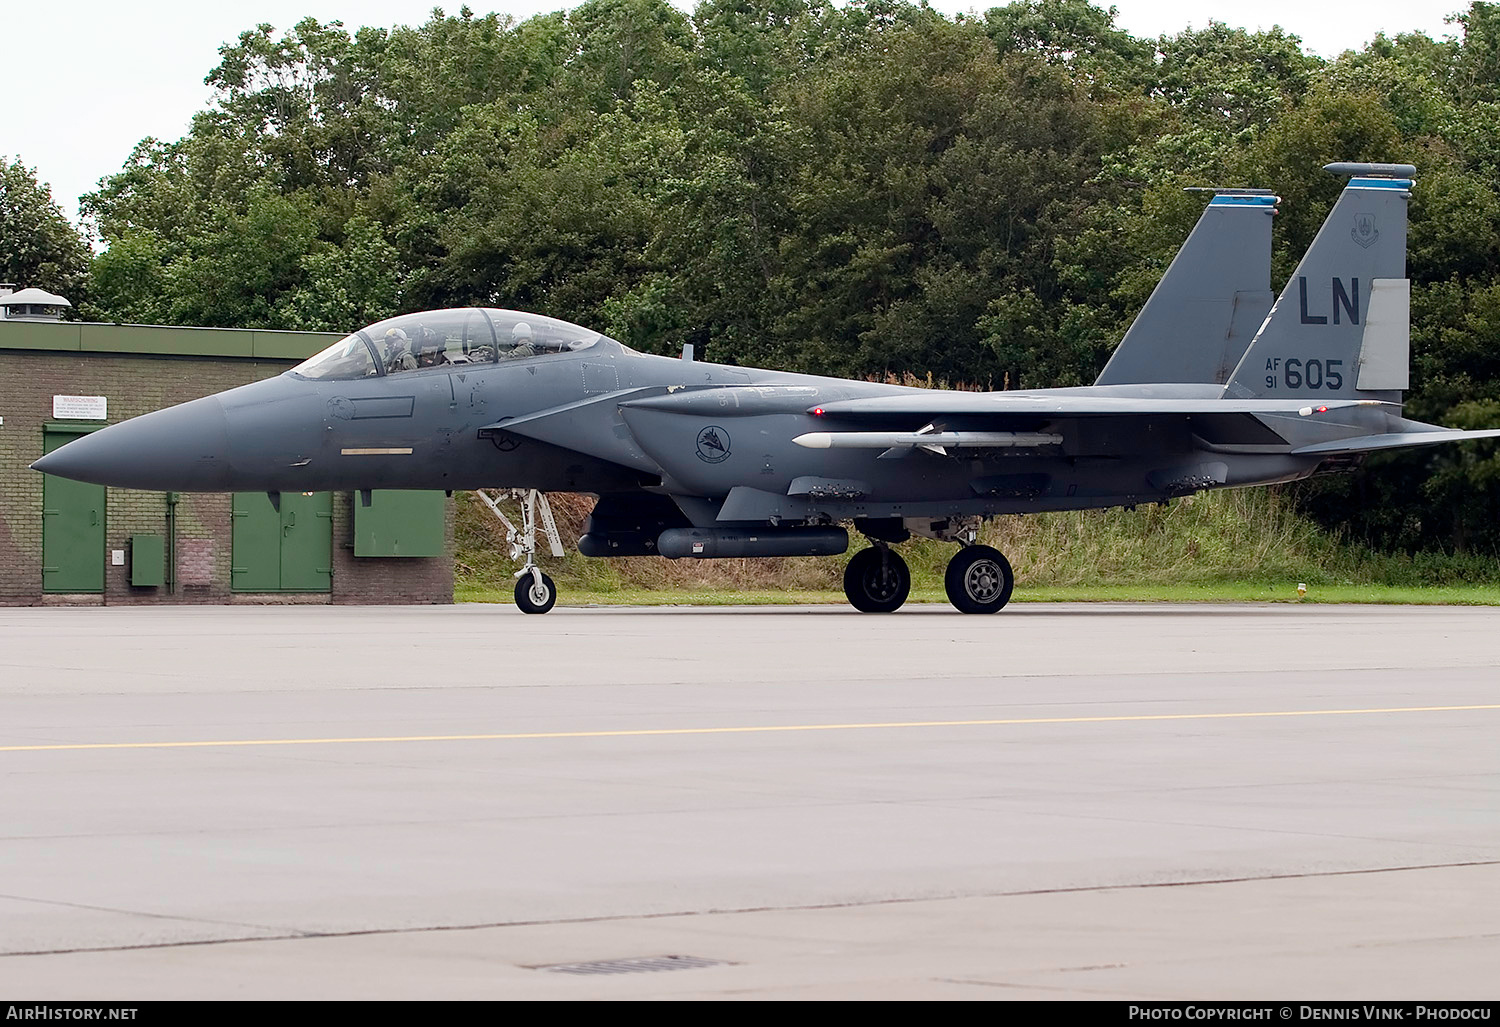
[[[674,0],[692,9],[692,0]],[[36,168],[69,216],[78,196],[118,171],[146,136],[177,139],[208,100],[204,76],[219,63],[218,49],[246,28],[268,21],[286,28],[300,18],[358,25],[420,24],[430,0],[52,0],[9,4],[0,52],[0,154]],[[460,4],[444,4],[456,12]],[[504,10],[528,18],[556,10],[567,0],[472,0],[477,12]],[[993,3],[933,0],[945,13]],[[1107,4],[1100,4],[1107,6]],[[1118,0],[1118,25],[1136,36],[1176,33],[1210,19],[1246,28],[1280,24],[1306,49],[1334,55],[1358,49],[1377,31],[1455,33],[1444,15],[1467,0]],[[0,240],[3,244],[3,240]]]

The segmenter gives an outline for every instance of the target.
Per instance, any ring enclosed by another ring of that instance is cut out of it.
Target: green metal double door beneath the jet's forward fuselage
[[[236,592],[327,592],[333,588],[333,493],[234,493]]]

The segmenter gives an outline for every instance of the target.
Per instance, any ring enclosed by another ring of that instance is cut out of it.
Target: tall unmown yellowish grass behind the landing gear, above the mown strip
[[[594,501],[550,495],[566,556],[540,564],[570,591],[834,591],[844,556],[669,561],[590,559],[573,547]],[[502,504],[520,523],[514,502]],[[471,493],[458,493],[458,585],[508,589],[504,528]],[[1280,489],[1236,489],[1136,510],[998,517],[980,541],[1005,553],[1022,588],[1308,582],[1310,585],[1474,585],[1500,582],[1500,561],[1450,553],[1378,555],[1314,525]],[[858,534],[850,553],[861,549]],[[898,547],[914,579],[938,583],[952,544],[914,538]],[[544,553],[543,543],[543,553]]]

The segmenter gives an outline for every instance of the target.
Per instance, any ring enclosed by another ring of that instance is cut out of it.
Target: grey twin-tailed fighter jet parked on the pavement
[[[588,556],[836,555],[864,612],[910,591],[892,549],[956,543],[945,589],[994,613],[1000,514],[1134,507],[1293,481],[1376,450],[1500,436],[1407,420],[1407,202],[1416,168],[1348,175],[1270,303],[1276,198],[1220,192],[1100,379],[956,393],[640,354],[518,310],[408,313],[286,373],[82,436],[33,468],[128,489],[582,492]],[[530,507],[528,507],[530,508]],[[528,517],[528,525],[534,519]],[[516,603],[556,588],[534,540]]]

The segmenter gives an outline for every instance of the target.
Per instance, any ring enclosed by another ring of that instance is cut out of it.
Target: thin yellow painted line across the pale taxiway
[[[0,753],[40,753],[90,748],[206,748],[232,745],[351,745],[368,742],[516,742],[548,738],[646,738],[652,735],[768,735],[776,732],[861,732],[890,727],[1005,727],[1017,724],[1128,724],[1170,720],[1250,720],[1266,717],[1356,717],[1362,714],[1444,714],[1500,709],[1476,706],[1384,706],[1377,709],[1284,709],[1248,714],[1132,714],[1126,717],[1017,717],[1010,720],[912,720],[868,724],[764,724],[753,727],[642,727],[615,732],[518,732],[504,735],[390,735],[374,738],[256,738],[212,742],[78,742],[64,745],[0,745]]]

